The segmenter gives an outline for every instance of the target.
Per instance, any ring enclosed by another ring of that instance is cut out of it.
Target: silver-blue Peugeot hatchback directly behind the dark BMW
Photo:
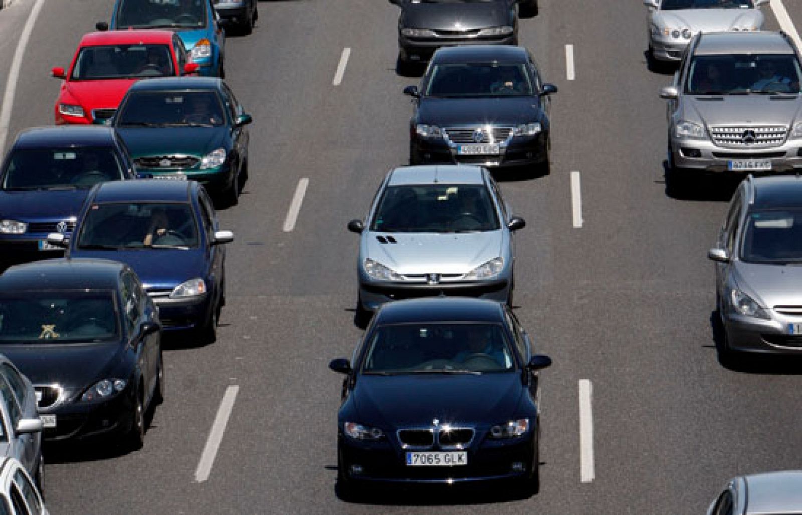
[[[387,174],[360,233],[358,314],[436,295],[512,302],[513,217],[485,168],[404,166]]]

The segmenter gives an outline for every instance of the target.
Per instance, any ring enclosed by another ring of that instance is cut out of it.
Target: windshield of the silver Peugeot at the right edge
[[[749,213],[741,260],[774,264],[802,262],[802,209]]]

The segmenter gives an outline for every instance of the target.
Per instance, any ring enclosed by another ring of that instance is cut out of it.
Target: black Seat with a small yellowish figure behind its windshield
[[[51,259],[0,275],[0,352],[34,383],[48,440],[144,442],[164,395],[156,306],[128,266]]]

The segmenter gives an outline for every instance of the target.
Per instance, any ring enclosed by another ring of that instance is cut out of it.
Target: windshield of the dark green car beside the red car
[[[117,127],[217,127],[225,120],[214,91],[145,91],[119,108]]]

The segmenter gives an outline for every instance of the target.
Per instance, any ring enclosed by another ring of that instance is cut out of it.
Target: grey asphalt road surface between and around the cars
[[[802,20],[802,6],[787,3]],[[33,6],[0,11],[0,87]],[[45,1],[7,144],[52,123],[50,68],[69,63],[111,6]],[[395,72],[398,8],[386,0],[260,2],[259,12],[252,35],[226,43],[227,82],[254,123],[249,182],[240,205],[221,212],[236,241],[220,337],[169,342],[166,401],[141,451],[48,449],[52,513],[703,513],[731,476],[800,467],[802,368],[772,360],[730,371],[716,359],[706,253],[736,183],[714,177],[685,198],[666,195],[658,90],[670,72],[646,67],[642,3],[541,0],[540,14],[520,21],[520,44],[560,88],[551,174],[497,177],[527,221],[516,313],[554,360],[541,373],[541,493],[520,499],[498,485],[340,500],[341,377],[327,363],[361,335],[358,238],[346,222],[363,217],[389,168],[406,164],[411,105],[401,90],[418,79]],[[298,217],[288,218],[302,179]],[[213,431],[224,398],[230,417]],[[210,434],[220,445],[202,462]]]

